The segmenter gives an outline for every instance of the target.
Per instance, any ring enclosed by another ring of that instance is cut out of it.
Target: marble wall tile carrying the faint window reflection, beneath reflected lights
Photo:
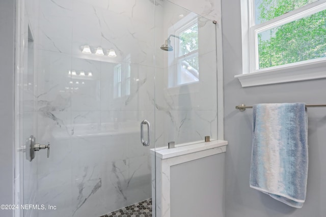
[[[101,110],[152,110],[155,68],[135,64],[117,64],[122,68],[121,97],[117,96],[117,74],[112,64],[102,64]],[[127,71],[130,70],[130,78]],[[128,89],[128,90],[127,90]]]

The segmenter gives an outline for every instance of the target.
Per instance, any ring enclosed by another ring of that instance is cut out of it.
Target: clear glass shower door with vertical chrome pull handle
[[[21,20],[21,216],[101,216],[152,197],[154,3],[17,0]],[[30,30],[28,29],[30,28]],[[30,33],[30,34],[29,34]],[[152,124],[151,145],[140,123]],[[48,208],[51,206],[51,208]]]

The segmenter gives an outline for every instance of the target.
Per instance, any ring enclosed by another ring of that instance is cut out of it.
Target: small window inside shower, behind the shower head
[[[182,17],[173,29],[179,39],[174,40],[175,56],[173,58],[176,69],[172,70],[169,78],[169,87],[190,84],[199,81],[199,58],[198,58],[198,17],[189,14]]]

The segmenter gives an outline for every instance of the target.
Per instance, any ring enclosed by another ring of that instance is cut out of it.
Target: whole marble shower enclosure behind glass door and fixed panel
[[[15,216],[147,200],[149,149],[217,138],[211,20],[163,0],[16,3],[15,203],[35,206]]]

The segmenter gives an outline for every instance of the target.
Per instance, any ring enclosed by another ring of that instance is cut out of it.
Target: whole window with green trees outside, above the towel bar
[[[241,19],[243,74],[256,74],[253,85],[326,77],[325,1],[241,0]],[[249,79],[236,77],[242,86]]]

